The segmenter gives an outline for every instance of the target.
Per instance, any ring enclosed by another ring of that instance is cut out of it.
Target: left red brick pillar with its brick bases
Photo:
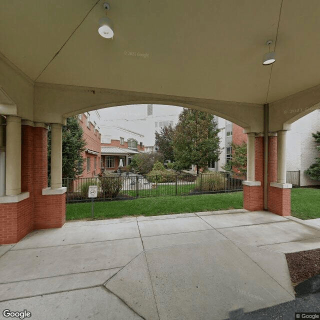
[[[30,196],[0,203],[0,244],[16,243],[36,228],[60,227],[65,222],[65,194],[42,195],[47,187],[47,130],[21,126],[21,192]]]

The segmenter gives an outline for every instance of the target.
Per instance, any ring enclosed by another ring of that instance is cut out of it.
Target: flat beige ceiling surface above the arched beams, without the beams
[[[97,33],[102,3],[1,0],[0,52],[37,82],[226,101],[320,83],[319,0],[109,0],[113,40]]]

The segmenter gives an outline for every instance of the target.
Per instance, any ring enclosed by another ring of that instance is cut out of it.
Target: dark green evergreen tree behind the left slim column
[[[62,126],[62,178],[73,178],[83,171],[83,157],[86,142],[83,130],[75,116],[66,119]],[[51,128],[48,130],[48,176],[50,176]]]

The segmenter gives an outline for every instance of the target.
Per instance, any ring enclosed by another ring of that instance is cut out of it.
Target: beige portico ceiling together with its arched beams
[[[107,12],[103,2],[0,1],[0,90],[16,105],[0,100],[0,113],[51,123],[163,103],[260,132],[264,103],[279,130],[320,102],[318,0],[109,0]],[[98,34],[105,15],[113,39]],[[268,50],[276,61],[264,66]]]

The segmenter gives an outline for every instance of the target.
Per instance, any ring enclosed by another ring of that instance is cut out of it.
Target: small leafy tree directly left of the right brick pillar
[[[240,144],[231,142],[230,147],[232,148],[232,158],[222,165],[222,169],[227,172],[246,172],[246,142],[243,141]]]

